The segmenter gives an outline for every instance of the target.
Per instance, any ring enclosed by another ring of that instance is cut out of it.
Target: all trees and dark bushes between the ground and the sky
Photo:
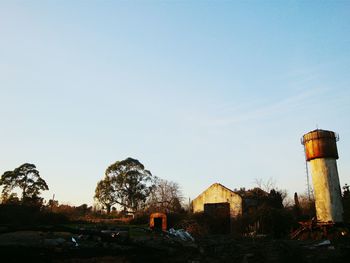
[[[226,218],[185,211],[180,186],[152,176],[136,159],[127,158],[113,163],[97,183],[94,197],[107,213],[87,204],[75,207],[59,204],[57,200],[43,202],[40,193],[48,190],[48,186],[35,165],[25,163],[1,176],[0,223],[26,225],[110,220],[147,225],[150,213],[164,212],[169,227],[184,228],[195,236],[233,231],[239,236],[263,234],[281,238],[298,227],[299,221],[311,220],[315,216],[314,200],[306,195],[295,194],[291,204],[285,202],[286,192],[276,190],[271,179],[267,183],[257,182],[264,189],[241,188],[236,191],[245,200],[243,214],[227,225]],[[345,222],[350,221],[349,188],[345,184],[342,194]],[[122,210],[117,211],[115,205]],[[134,216],[128,216],[125,211],[132,212]]]

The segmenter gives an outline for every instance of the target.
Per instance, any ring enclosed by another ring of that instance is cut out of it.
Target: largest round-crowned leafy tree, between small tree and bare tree
[[[106,179],[108,178],[108,179]],[[152,174],[136,159],[117,161],[106,169],[104,189],[109,200],[121,205],[125,210],[136,212],[146,202],[151,189]],[[102,181],[104,181],[102,180]]]

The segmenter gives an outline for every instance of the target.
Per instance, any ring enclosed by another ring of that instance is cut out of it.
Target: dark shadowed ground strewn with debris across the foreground
[[[72,239],[73,237],[73,239]],[[146,229],[21,230],[0,234],[1,262],[348,262],[350,240],[235,239],[194,242]]]

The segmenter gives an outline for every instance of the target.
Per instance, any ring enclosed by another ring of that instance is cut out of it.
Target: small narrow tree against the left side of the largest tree
[[[107,214],[111,212],[111,207],[118,201],[115,178],[105,176],[103,180],[97,183],[95,199],[106,208]]]

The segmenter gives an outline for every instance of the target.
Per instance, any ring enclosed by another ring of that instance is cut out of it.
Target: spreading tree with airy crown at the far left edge
[[[5,172],[0,179],[3,186],[2,195],[10,196],[10,193],[20,188],[22,203],[28,201],[39,201],[41,191],[49,190],[44,179],[40,177],[39,171],[34,164],[25,163],[13,171]]]

